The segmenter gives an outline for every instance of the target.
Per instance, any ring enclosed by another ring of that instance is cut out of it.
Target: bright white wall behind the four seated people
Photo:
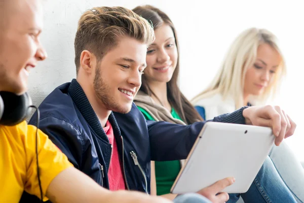
[[[165,11],[177,29],[180,42],[180,88],[191,99],[214,77],[229,45],[246,28],[267,28],[280,40],[288,76],[274,104],[297,122],[287,143],[304,161],[302,124],[304,12],[302,1],[169,1],[169,0],[49,0],[45,2],[42,42],[48,59],[30,75],[29,92],[39,105],[58,85],[75,77],[73,41],[81,14],[95,6],[133,9],[150,4]]]

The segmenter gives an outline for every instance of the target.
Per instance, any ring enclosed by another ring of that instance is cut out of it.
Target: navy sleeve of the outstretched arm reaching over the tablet
[[[243,117],[245,108],[247,107],[242,107],[230,114],[214,117],[213,120],[196,122],[192,125],[178,125],[164,121],[146,121],[149,132],[151,160],[186,159],[206,122],[245,124],[245,118]]]

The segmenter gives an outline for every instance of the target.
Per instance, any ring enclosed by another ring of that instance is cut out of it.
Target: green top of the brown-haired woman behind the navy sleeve
[[[154,120],[144,109],[137,107],[146,120]],[[176,111],[172,108],[173,118],[180,119]],[[179,161],[155,161],[156,189],[157,195],[168,194],[180,171]]]

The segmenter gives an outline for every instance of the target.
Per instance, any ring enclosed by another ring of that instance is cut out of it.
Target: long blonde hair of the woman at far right
[[[235,101],[236,108],[244,106],[245,74],[256,60],[257,48],[260,44],[269,44],[281,55],[274,80],[265,89],[262,95],[252,97],[250,103],[262,104],[268,98],[276,94],[280,80],[286,74],[286,66],[276,36],[267,29],[250,28],[243,31],[233,42],[227,52],[220,70],[217,72],[211,84],[200,94],[192,99],[192,104],[213,94],[220,93],[223,99],[228,96]]]

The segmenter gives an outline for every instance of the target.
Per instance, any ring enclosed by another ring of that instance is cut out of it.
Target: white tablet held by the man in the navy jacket
[[[218,180],[235,177],[222,192],[244,193],[274,145],[269,127],[207,122],[181,168],[171,193],[197,192]]]

